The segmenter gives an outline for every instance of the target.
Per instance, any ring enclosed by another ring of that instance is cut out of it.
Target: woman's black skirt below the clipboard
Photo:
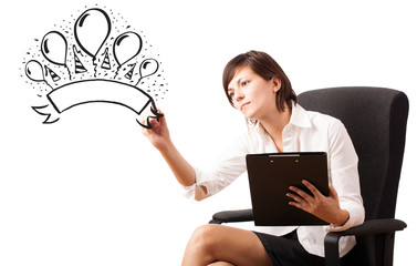
[[[307,253],[300,244],[296,231],[284,236],[253,232],[262,242],[273,266],[324,266],[325,260]]]

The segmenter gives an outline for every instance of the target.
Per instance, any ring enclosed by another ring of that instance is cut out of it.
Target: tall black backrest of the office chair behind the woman
[[[299,103],[344,123],[359,157],[365,219],[393,218],[406,139],[406,94],[384,88],[329,88],[301,93]],[[354,252],[363,262],[356,265],[377,265],[375,256],[383,252],[377,242],[357,239],[358,248],[366,250]]]

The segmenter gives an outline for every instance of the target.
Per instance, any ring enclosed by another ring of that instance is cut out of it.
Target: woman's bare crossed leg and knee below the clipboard
[[[272,265],[253,232],[222,225],[198,227],[187,244],[183,266],[207,266],[217,262],[239,266]]]

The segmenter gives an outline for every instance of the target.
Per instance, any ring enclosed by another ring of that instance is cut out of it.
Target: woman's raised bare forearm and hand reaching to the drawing
[[[159,110],[158,113],[163,114]],[[150,120],[149,123],[152,125],[152,129],[144,127],[143,133],[160,152],[179,184],[184,186],[190,186],[195,184],[196,172],[174,145],[169,136],[169,130],[165,115],[163,117],[159,117],[158,120]]]

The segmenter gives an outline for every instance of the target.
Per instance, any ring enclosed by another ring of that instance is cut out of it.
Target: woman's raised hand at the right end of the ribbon
[[[158,110],[158,113],[164,115],[160,110]],[[145,124],[145,121],[143,123]],[[165,115],[159,119],[152,119],[149,121],[149,124],[152,129],[143,127],[142,132],[158,151],[163,151],[170,143],[170,136]]]

